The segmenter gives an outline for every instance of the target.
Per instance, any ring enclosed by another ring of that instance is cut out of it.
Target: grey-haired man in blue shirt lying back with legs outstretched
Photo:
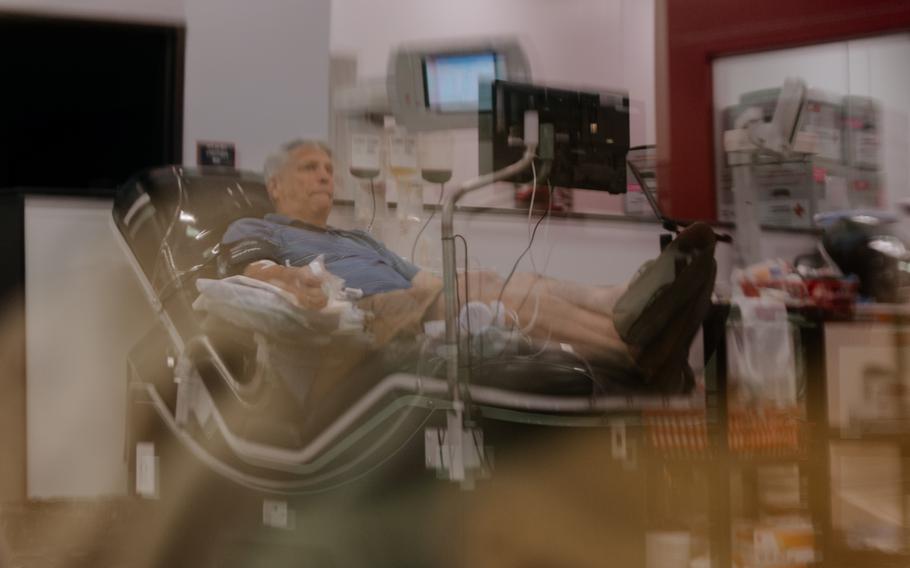
[[[363,290],[360,307],[373,314],[375,347],[401,334],[420,333],[424,321],[444,319],[438,276],[364,231],[327,225],[334,182],[331,152],[324,144],[285,144],[267,161],[265,178],[275,213],[238,220],[222,239],[226,245],[257,241],[271,251],[268,258],[246,264],[246,276],[276,284],[301,306],[319,309],[327,298],[307,265],[324,255],[329,272]],[[569,344],[588,358],[619,355],[638,365],[658,389],[678,391],[689,346],[710,305],[714,245],[710,228],[693,225],[631,284],[616,287],[519,273],[503,289],[496,274],[469,272],[459,277],[460,301],[501,299],[532,338]]]

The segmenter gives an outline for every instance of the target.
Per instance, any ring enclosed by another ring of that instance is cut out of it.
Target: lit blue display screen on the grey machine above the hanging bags
[[[479,85],[501,78],[504,73],[500,67],[499,58],[491,51],[425,57],[423,87],[427,107],[438,112],[489,110],[479,108]]]

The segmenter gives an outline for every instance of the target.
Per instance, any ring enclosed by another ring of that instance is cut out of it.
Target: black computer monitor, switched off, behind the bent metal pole
[[[491,110],[480,111],[478,136],[481,173],[518,161],[524,149],[510,138],[524,138],[524,114],[536,110],[541,133],[552,128],[554,186],[626,191],[629,151],[629,97],[618,92],[583,92],[525,83],[494,81]],[[541,149],[545,141],[541,139]],[[527,183],[531,172],[510,181]]]

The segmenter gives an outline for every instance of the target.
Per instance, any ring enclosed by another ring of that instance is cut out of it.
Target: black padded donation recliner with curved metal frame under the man
[[[255,490],[321,490],[368,471],[412,438],[428,454],[440,450],[439,459],[427,456],[428,465],[449,465],[441,453],[444,430],[433,431],[438,439],[420,435],[453,408],[449,385],[413,338],[373,353],[318,399],[301,398],[287,365],[279,371],[263,356],[261,333],[194,309],[197,282],[227,276],[225,259],[245,253],[221,244],[228,225],[271,210],[261,178],[234,170],[164,167],[119,189],[115,234],[159,320],[129,357],[134,399],[150,404],[211,469]],[[363,340],[321,325],[304,330],[300,353]],[[679,390],[691,389],[688,383]],[[462,400],[478,420],[552,426],[603,425],[614,410],[697,405],[667,395],[635,368],[519,344],[476,362]],[[464,457],[482,466],[482,441],[476,443]]]

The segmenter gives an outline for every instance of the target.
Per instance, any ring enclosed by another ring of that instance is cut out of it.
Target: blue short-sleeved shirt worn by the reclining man
[[[260,239],[276,247],[276,262],[305,266],[325,255],[325,267],[343,278],[345,286],[360,288],[364,296],[403,290],[420,270],[393,253],[368,233],[317,227],[277,213],[263,219],[245,218],[231,223],[221,242],[231,244]]]

